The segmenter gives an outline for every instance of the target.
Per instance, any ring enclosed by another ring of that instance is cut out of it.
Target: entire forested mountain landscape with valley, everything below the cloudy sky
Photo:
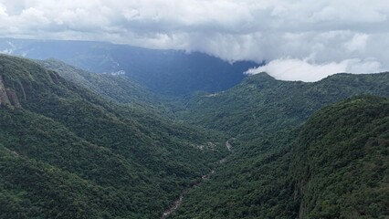
[[[0,218],[389,216],[387,72],[305,83],[200,53],[2,41],[56,59],[0,55]],[[107,51],[137,64],[110,74]],[[142,78],[157,72],[171,84]]]

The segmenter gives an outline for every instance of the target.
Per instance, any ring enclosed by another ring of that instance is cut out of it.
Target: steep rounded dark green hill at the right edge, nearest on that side
[[[292,154],[300,218],[389,216],[389,99],[355,98],[321,110]]]

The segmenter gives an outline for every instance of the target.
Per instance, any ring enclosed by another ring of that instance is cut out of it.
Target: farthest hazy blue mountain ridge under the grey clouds
[[[102,42],[0,38],[0,51],[37,58],[57,58],[92,72],[126,74],[158,93],[216,92],[237,85],[251,61],[233,64],[203,53],[158,50]]]

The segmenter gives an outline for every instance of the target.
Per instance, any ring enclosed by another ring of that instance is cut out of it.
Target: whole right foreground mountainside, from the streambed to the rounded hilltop
[[[172,218],[385,218],[388,130],[389,99],[335,103],[302,127],[237,144]]]

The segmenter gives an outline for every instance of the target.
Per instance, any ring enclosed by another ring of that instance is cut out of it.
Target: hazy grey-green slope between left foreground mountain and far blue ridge
[[[126,75],[91,73],[75,68],[57,59],[35,60],[44,68],[56,71],[58,75],[79,87],[125,105],[128,109],[142,113],[163,114],[172,117],[172,104],[168,97],[157,95],[150,89],[136,83]]]

